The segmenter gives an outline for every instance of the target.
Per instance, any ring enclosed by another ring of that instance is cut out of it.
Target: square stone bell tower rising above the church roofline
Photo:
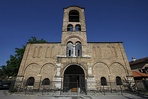
[[[84,8],[78,6],[64,8],[61,42],[63,45],[67,45],[68,42],[72,44],[79,42],[82,46],[87,44]]]

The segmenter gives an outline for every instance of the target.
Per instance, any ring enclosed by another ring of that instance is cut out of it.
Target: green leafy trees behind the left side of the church
[[[36,37],[31,37],[27,43],[46,43],[46,41],[44,39],[37,40]],[[18,69],[25,52],[25,48],[25,45],[23,45],[22,48],[15,48],[15,55],[10,55],[10,59],[6,62],[7,65],[3,65],[2,69],[0,70],[0,78],[17,76]]]

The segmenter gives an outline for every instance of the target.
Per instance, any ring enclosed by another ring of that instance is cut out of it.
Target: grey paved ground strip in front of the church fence
[[[131,94],[124,95],[99,95],[99,96],[49,96],[49,95],[25,95],[10,94],[7,90],[0,90],[0,99],[148,99]]]

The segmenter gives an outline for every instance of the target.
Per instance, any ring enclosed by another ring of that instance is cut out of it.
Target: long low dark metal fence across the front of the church
[[[61,88],[56,88],[55,83],[61,83]],[[42,94],[42,95],[106,95],[106,94],[124,94],[131,91],[136,91],[135,86],[130,86],[128,83],[123,83],[122,85],[117,85],[115,82],[107,82],[106,85],[101,85],[101,83],[96,83],[96,89],[88,90],[87,83],[85,85],[80,85],[79,83],[70,82],[55,82],[50,81],[48,85],[43,85],[42,82],[34,82],[32,86],[26,85],[26,81],[17,82],[15,89],[17,92],[24,94]],[[66,88],[65,88],[66,87]],[[129,88],[131,87],[131,88]],[[132,89],[132,90],[131,90]]]

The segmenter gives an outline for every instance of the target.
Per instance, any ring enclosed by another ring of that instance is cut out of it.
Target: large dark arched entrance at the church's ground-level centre
[[[77,88],[80,88],[80,91],[85,91],[84,70],[78,65],[70,65],[64,72],[63,90],[69,91]]]

